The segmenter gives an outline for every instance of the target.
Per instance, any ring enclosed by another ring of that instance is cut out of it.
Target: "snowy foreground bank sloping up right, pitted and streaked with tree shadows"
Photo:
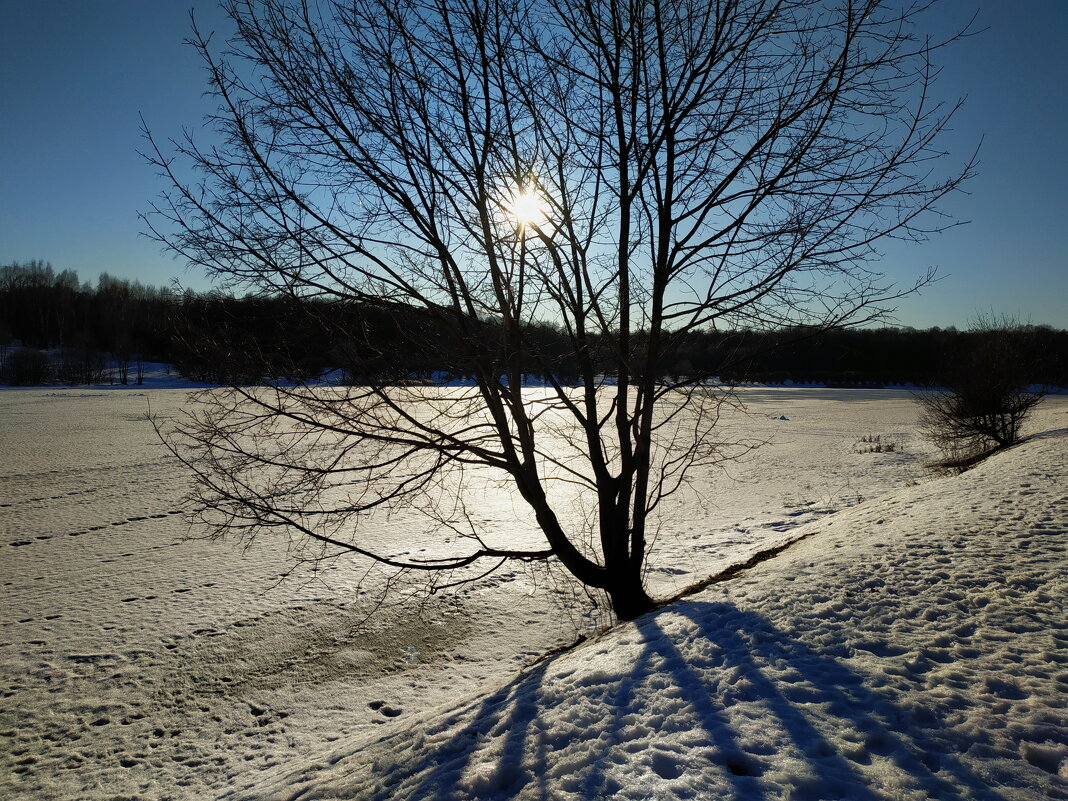
[[[1068,428],[239,799],[1068,799]]]

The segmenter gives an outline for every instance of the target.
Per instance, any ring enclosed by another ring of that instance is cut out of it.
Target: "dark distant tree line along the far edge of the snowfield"
[[[557,377],[577,374],[552,325],[530,328],[528,335]],[[1014,335],[1033,355],[1031,381],[1068,383],[1068,331],[1022,326]],[[660,371],[770,383],[939,383],[977,336],[954,328],[691,331]],[[413,339],[425,347],[399,345]],[[502,363],[505,347],[502,340]],[[4,383],[137,383],[145,362],[174,364],[187,378],[218,383],[304,380],[330,370],[350,382],[462,378],[474,370],[460,350],[431,315],[399,303],[178,292],[107,273],[94,285],[41,261],[0,266]]]

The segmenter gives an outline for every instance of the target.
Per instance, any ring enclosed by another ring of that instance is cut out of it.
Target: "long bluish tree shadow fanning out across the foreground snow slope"
[[[666,633],[662,623],[679,615],[687,623]],[[628,789],[613,768],[641,761],[648,797],[692,798],[687,774],[711,771],[729,786],[724,798],[759,801],[778,795],[761,775],[788,753],[799,760],[794,772],[806,774],[789,787],[794,801],[893,795],[893,788],[871,786],[876,773],[904,774],[913,792],[944,801],[1004,799],[951,753],[953,739],[940,736],[936,714],[895,704],[760,615],[728,603],[682,601],[637,625],[642,651],[622,680],[606,680],[598,690],[582,687],[583,674],[576,674],[575,692],[590,693],[596,705],[575,712],[581,721],[561,720],[554,700],[560,679],[544,684],[554,658],[462,716],[466,724],[444,744],[429,747],[426,758],[415,765],[402,759],[388,770],[379,797],[508,799],[522,792],[552,799],[566,770],[568,794],[611,798]],[[686,654],[677,644],[682,641]],[[647,706],[650,697],[655,708]],[[744,717],[751,710],[755,720]],[[643,731],[650,721],[656,731]],[[766,731],[754,733],[754,725]],[[584,728],[597,739],[577,740]],[[882,765],[865,775],[862,766],[873,759]]]

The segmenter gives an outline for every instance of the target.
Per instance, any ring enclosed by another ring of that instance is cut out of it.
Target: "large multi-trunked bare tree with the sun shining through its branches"
[[[657,516],[729,455],[708,376],[658,364],[696,329],[877,318],[914,288],[865,266],[878,242],[949,224],[928,213],[970,164],[933,173],[953,108],[928,95],[944,43],[916,34],[926,5],[227,2],[230,46],[193,40],[222,144],[150,135],[173,185],[151,230],[247,289],[394,314],[398,351],[473,386],[387,370],[201,397],[172,442],[214,530],[455,580],[559,560],[619,617],[650,609]],[[389,364],[346,335],[355,362]],[[497,481],[539,541],[465,515]],[[434,509],[458,550],[377,550],[360,521],[382,506]]]

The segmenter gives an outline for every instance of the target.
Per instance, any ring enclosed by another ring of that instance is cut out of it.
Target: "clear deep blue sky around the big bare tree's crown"
[[[41,258],[82,280],[104,271],[206,288],[139,233],[163,184],[138,155],[139,114],[161,138],[211,109],[190,47],[230,26],[205,0],[0,0],[0,264]],[[897,321],[963,327],[978,312],[1068,328],[1068,0],[943,0],[936,29],[978,12],[986,28],[944,52],[937,92],[967,96],[945,144],[977,176],[946,209],[969,224],[894,246],[877,266],[942,280]]]

